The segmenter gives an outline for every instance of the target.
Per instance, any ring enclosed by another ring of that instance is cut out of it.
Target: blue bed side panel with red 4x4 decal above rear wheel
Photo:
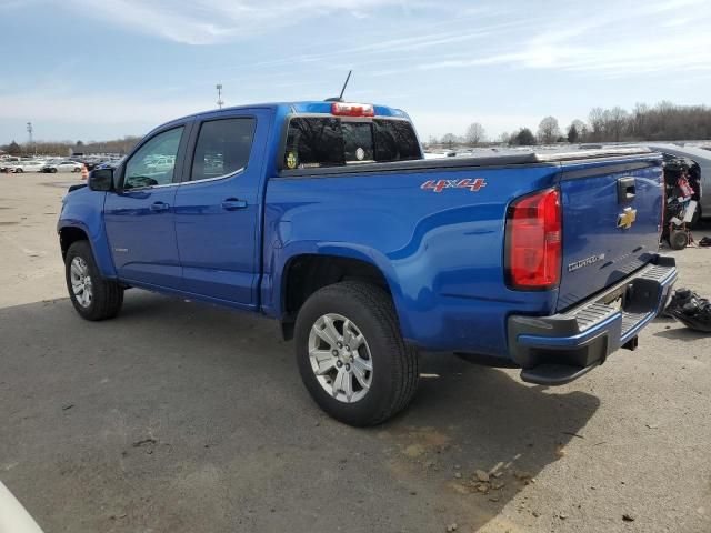
[[[505,210],[513,198],[553,187],[558,178],[557,164],[271,178],[263,310],[281,314],[281,273],[291,258],[352,257],[383,272],[409,341],[503,356],[507,314],[550,313],[558,295],[505,288]],[[421,187],[465,179],[485,185],[477,192]]]

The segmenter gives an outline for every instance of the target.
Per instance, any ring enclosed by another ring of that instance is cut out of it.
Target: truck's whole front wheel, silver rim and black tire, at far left
[[[87,241],[77,241],[64,258],[67,289],[77,312],[87,320],[112,319],[123,304],[123,289],[104,280]]]

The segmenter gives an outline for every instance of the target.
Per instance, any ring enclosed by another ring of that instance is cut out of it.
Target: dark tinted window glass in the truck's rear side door
[[[196,144],[190,180],[221,178],[247,168],[256,123],[253,118],[203,122]]]

